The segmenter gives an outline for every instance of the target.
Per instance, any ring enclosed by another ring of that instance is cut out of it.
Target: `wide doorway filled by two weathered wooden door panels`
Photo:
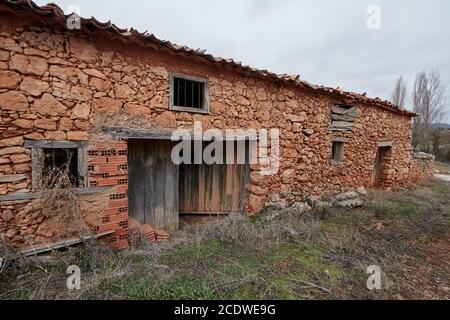
[[[179,228],[182,215],[243,213],[250,174],[248,142],[235,145],[235,164],[182,164],[172,161],[170,140],[128,140],[130,217],[156,229]],[[209,142],[203,142],[203,148]],[[242,152],[242,151],[241,151]],[[243,160],[242,160],[243,159]]]

